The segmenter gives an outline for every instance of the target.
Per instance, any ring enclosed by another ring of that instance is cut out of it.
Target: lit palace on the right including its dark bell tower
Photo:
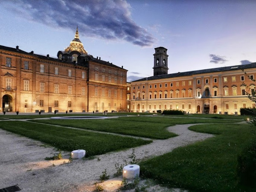
[[[168,74],[167,49],[157,47],[153,69],[154,76],[128,84],[128,110],[240,114],[255,108],[246,92],[255,93],[256,63]]]

